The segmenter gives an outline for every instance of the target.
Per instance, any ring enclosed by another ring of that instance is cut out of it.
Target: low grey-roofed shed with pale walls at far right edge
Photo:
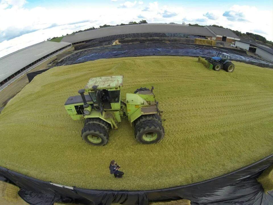
[[[268,62],[273,63],[273,47],[270,47],[262,42],[255,41],[253,39],[243,37],[240,38],[240,41],[235,41],[235,46],[256,53]]]

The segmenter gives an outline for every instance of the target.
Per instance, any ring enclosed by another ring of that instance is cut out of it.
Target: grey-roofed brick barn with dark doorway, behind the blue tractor
[[[220,28],[215,26],[205,26],[210,32],[216,36],[213,40],[224,41],[224,42],[235,42],[235,40],[240,40],[240,38],[227,28]]]

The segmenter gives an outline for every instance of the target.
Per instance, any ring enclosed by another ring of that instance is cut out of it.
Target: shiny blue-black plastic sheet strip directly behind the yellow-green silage
[[[59,65],[71,65],[83,63],[102,58],[119,58],[132,56],[193,56],[193,57],[212,57],[218,52],[225,52],[231,56],[231,60],[244,62],[260,67],[273,68],[273,64],[250,57],[247,54],[236,52],[235,50],[216,48],[211,46],[202,46],[196,44],[178,44],[178,43],[138,43],[121,44],[107,47],[93,48],[77,52],[58,62]]]

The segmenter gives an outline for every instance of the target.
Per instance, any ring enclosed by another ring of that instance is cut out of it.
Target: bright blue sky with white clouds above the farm
[[[54,36],[142,19],[216,24],[273,41],[272,0],[0,0],[0,57]]]

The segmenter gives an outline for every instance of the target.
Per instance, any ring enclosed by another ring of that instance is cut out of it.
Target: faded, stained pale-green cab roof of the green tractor
[[[85,89],[92,90],[92,86],[98,86],[98,89],[101,88],[113,88],[123,86],[123,76],[106,76],[106,77],[95,77],[90,78]]]

